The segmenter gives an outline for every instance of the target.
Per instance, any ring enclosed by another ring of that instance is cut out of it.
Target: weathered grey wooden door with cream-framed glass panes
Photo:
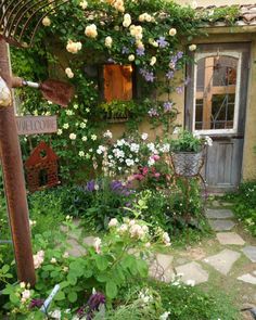
[[[204,172],[209,189],[233,189],[241,180],[249,46],[203,44],[194,57],[185,125],[214,140]]]

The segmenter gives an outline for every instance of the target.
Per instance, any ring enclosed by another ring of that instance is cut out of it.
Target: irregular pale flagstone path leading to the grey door
[[[208,208],[206,217],[216,239],[185,252],[177,249],[171,255],[161,255],[161,261],[156,258],[151,271],[158,266],[162,273],[155,278],[166,282],[178,279],[189,285],[207,287],[218,281],[218,290],[230,285],[231,293],[241,291],[241,307],[247,303],[256,306],[256,240],[241,230],[233,213],[225,208],[230,204],[221,206],[217,201],[214,204],[216,208]],[[252,318],[248,315],[245,319]]]

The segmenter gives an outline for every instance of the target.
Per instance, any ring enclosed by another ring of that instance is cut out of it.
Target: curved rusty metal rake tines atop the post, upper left
[[[16,47],[30,47],[43,17],[69,1],[0,0],[0,36]],[[27,35],[33,23],[30,35]],[[25,36],[29,38],[29,43],[25,43]]]

